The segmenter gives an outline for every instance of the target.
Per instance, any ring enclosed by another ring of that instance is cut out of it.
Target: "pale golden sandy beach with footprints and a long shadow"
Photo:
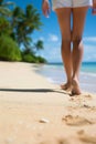
[[[0,144],[96,144],[96,95],[72,97],[36,68],[0,62]]]

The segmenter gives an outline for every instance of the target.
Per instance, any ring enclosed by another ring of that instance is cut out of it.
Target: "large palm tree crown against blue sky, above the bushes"
[[[18,44],[23,44],[28,49],[31,43],[30,34],[34,30],[40,30],[42,25],[40,13],[32,4],[26,6],[25,11],[17,7],[12,14],[12,25]]]

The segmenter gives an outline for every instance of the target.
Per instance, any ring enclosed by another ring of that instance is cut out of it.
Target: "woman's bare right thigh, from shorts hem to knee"
[[[88,7],[73,8],[73,34],[72,39],[82,39]]]

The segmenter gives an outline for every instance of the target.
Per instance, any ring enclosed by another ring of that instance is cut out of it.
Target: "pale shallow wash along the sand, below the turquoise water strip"
[[[66,76],[62,65],[44,64],[36,70],[39,74],[44,75],[51,83],[61,85],[65,83]],[[81,71],[79,84],[83,92],[96,94],[96,73]]]

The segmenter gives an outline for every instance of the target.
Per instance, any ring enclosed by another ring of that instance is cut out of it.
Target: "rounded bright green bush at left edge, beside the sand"
[[[0,60],[21,61],[21,52],[18,44],[4,34],[0,37]]]

